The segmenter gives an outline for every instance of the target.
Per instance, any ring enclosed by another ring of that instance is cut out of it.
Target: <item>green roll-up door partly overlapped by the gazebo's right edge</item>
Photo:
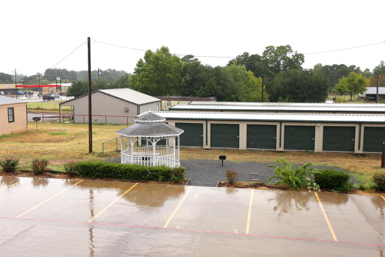
[[[203,147],[203,123],[175,123],[175,127],[184,132],[179,136],[180,146]],[[178,139],[176,139],[178,145]]]

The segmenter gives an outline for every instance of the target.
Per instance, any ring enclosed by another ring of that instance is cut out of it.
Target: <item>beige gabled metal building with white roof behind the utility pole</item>
[[[97,90],[92,93],[92,122],[133,124],[134,118],[148,110],[161,110],[161,100],[129,88]],[[75,123],[88,122],[88,95],[59,103],[72,107]],[[68,120],[65,116],[64,121]]]

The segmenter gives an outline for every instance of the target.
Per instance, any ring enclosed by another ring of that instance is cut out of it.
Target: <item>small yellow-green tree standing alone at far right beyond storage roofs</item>
[[[362,94],[370,85],[369,79],[361,74],[351,72],[347,77],[340,78],[338,83],[334,86],[333,91],[339,95],[348,94],[350,100],[353,95]]]

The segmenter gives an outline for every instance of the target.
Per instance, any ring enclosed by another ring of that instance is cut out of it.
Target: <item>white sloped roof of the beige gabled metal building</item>
[[[132,90],[130,88],[103,89],[98,91],[122,98],[124,100],[130,101],[132,103],[136,103],[138,105],[161,101],[158,98],[146,95],[144,93]]]

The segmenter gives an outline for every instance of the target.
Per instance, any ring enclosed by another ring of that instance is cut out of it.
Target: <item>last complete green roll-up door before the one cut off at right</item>
[[[356,127],[323,127],[323,151],[354,152]]]

